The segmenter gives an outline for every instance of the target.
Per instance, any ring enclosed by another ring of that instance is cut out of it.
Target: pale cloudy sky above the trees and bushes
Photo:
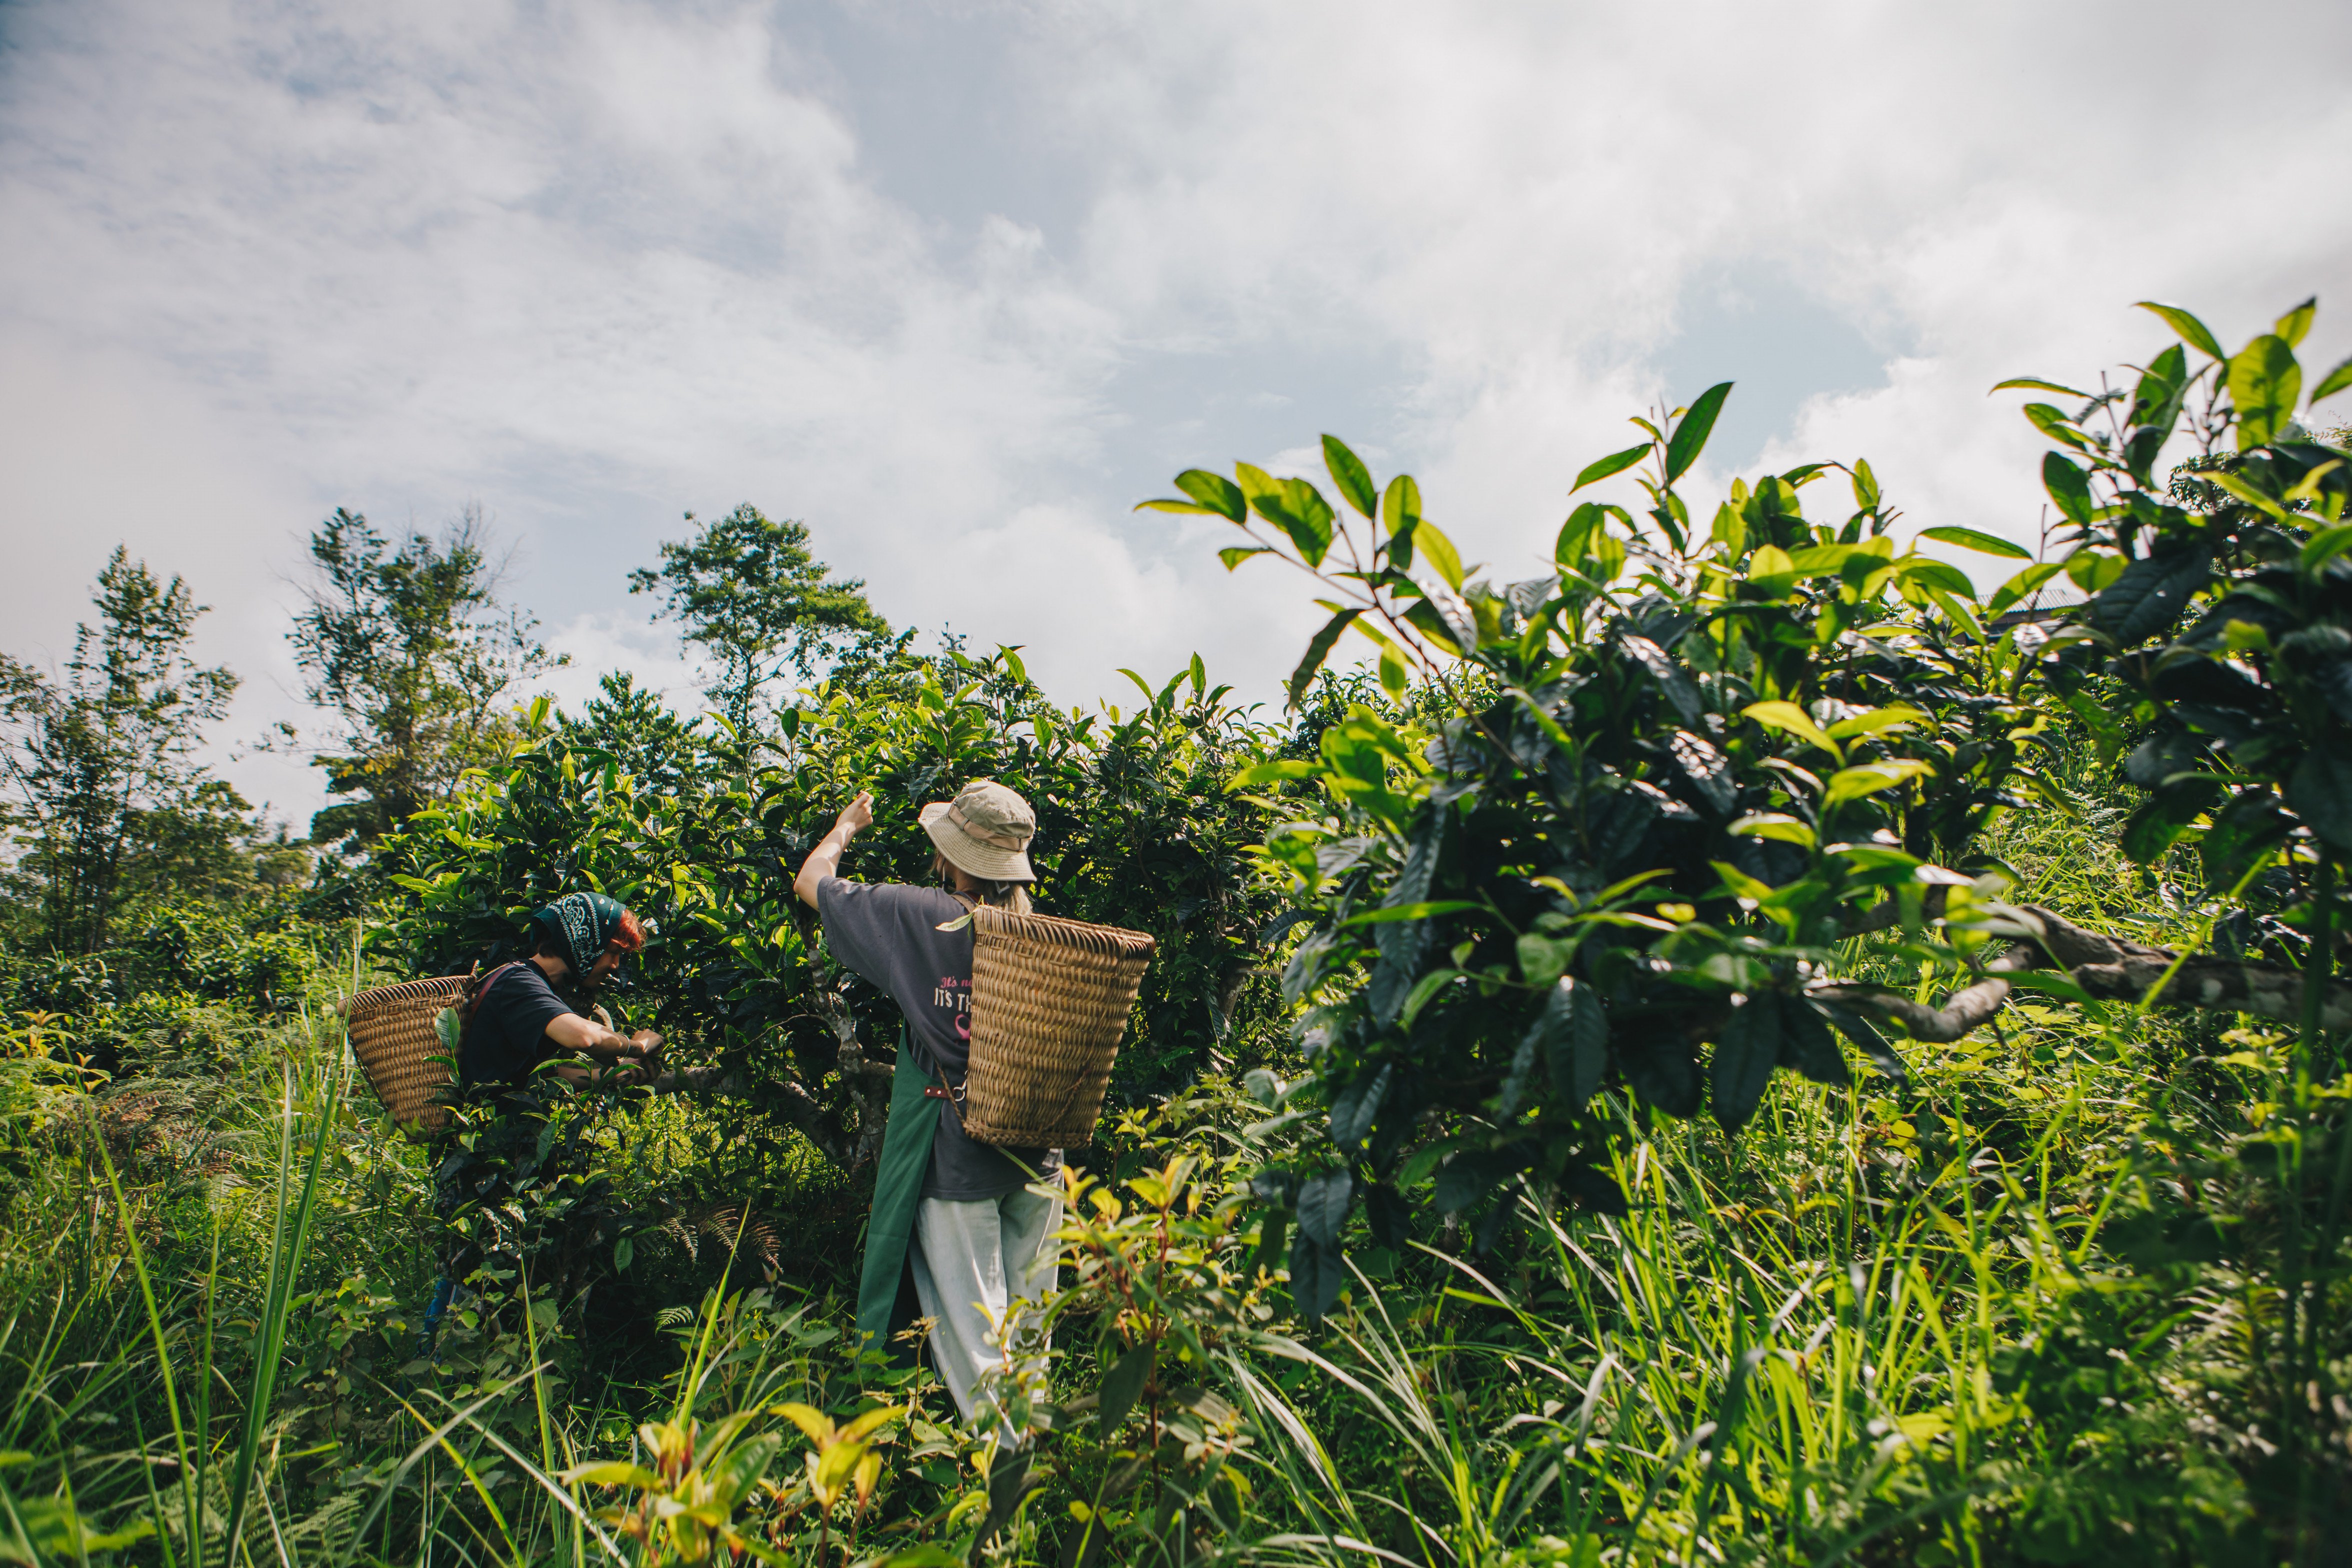
[[[1531,576],[1724,378],[1700,505],[1867,456],[2032,543],[1994,381],[2145,360],[2140,299],[2352,348],[2347,82],[2340,0],[0,0],[0,649],[61,663],[118,543],[186,576],[214,757],[301,825],[256,743],[318,733],[339,505],[477,505],[569,703],[696,701],[626,578],[741,501],[1063,703],[1275,698],[1310,585],[1131,510],[1171,475],[1334,433]]]

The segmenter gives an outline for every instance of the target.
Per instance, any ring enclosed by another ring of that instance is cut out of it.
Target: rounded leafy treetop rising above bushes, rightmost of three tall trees
[[[809,555],[807,524],[771,522],[748,501],[703,522],[694,538],[661,545],[661,569],[630,571],[628,590],[661,595],[687,642],[717,661],[706,691],[736,729],[750,726],[760,689],[786,668],[814,679],[842,646],[889,637],[866,583],[840,581]]]

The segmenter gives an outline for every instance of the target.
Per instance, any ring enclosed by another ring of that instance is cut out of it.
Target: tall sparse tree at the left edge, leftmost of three
[[[0,654],[0,778],[16,844],[14,891],[61,952],[106,947],[132,886],[167,882],[141,860],[214,867],[242,832],[245,802],[198,762],[202,726],[238,677],[188,654],[195,602],[115,548],[99,574],[64,677]]]

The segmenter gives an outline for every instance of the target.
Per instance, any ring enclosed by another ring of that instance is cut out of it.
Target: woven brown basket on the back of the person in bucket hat
[[[964,1131],[1000,1147],[1094,1143],[1152,945],[1141,931],[976,905]]]

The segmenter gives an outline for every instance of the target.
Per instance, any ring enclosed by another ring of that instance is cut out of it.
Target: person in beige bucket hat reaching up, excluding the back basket
[[[971,905],[1028,912],[1037,813],[1018,792],[974,778],[955,799],[922,806],[917,820],[943,886],[840,875],[849,839],[873,823],[873,795],[858,795],[809,851],[793,891],[823,919],[833,957],[906,1013],[866,1227],[858,1333],[868,1345],[887,1342],[913,1316],[903,1307],[910,1291],[931,1319],[931,1361],[971,1420],[981,1368],[1002,1356],[1007,1309],[1054,1284],[1051,1237],[1061,1229],[1061,1199],[1030,1192],[1061,1168],[1061,1150],[976,1143],[950,1098],[971,1056]]]

